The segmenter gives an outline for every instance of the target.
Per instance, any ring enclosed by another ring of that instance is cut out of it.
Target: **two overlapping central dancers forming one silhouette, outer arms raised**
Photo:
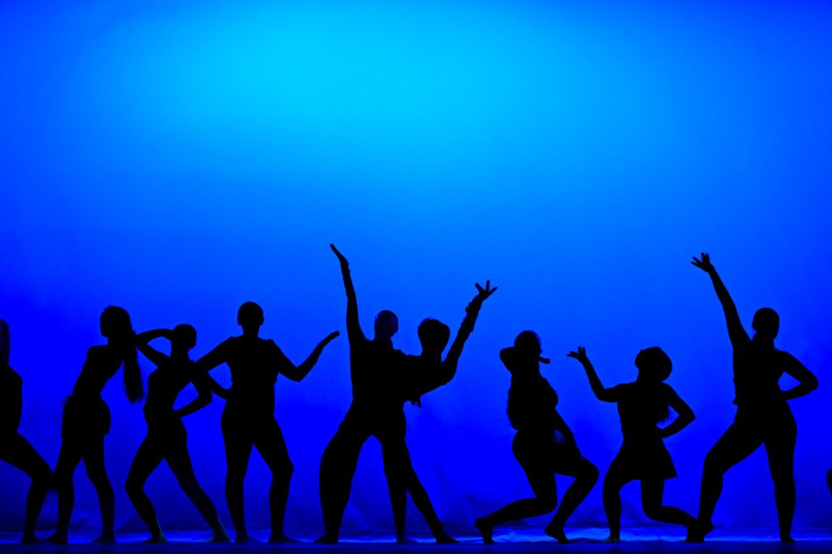
[[[443,530],[428,493],[414,472],[405,442],[407,422],[403,408],[406,401],[418,402],[422,394],[453,378],[463,344],[473,331],[479,309],[496,289],[491,289],[490,283],[485,289],[477,285],[478,294],[468,305],[468,314],[444,362],[442,353],[448,344],[449,329],[434,319],[425,320],[419,328],[423,355],[405,357],[393,348],[392,337],[399,329],[399,319],[393,312],[379,312],[375,318],[374,339],[364,336],[349,262],[334,245],[330,248],[338,257],[347,294],[353,402],[321,458],[320,496],[326,532],[318,541],[338,542],[359,453],[367,439],[375,437],[381,443],[396,542],[409,542],[404,535],[408,490],[437,542],[455,542]]]

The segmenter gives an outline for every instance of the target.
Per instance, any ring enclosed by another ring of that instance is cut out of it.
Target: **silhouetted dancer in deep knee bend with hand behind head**
[[[512,443],[514,458],[526,472],[534,497],[480,517],[475,524],[487,544],[493,542],[492,533],[499,524],[542,516],[557,507],[556,474],[575,477],[575,481],[563,495],[546,534],[558,542],[569,542],[563,526],[598,481],[598,468],[582,456],[572,430],[557,413],[557,393],[540,374],[540,363],[548,364],[549,360],[540,354],[540,339],[532,331],[523,331],[513,347],[500,352],[500,359],[512,373],[508,418],[518,431]]]

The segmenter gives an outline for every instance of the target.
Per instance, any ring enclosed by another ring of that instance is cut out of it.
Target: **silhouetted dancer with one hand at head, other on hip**
[[[160,338],[171,341],[170,356],[162,354],[148,344],[151,340]],[[144,490],[147,478],[163,460],[171,467],[171,472],[176,476],[182,490],[208,522],[214,534],[210,542],[230,542],[220,518],[217,517],[214,503],[196,482],[191,455],[188,453],[187,433],[181,419],[205,408],[212,398],[209,382],[213,382],[213,379],[207,373],[196,373],[194,363],[188,356],[188,351],[194,346],[196,329],[187,324],[177,325],[172,331],[146,331],[136,337],[136,348],[156,365],[156,371],[147,378],[147,436],[136,452],[136,458],[133,458],[130,472],[127,474],[126,489],[136,512],[139,512],[141,520],[151,532],[151,538],[147,541],[151,543],[167,542],[156,519],[156,510]],[[189,383],[193,383],[199,396],[182,408],[175,409],[173,406],[176,397]]]

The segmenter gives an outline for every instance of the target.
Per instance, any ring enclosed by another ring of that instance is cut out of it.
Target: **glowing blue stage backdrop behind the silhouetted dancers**
[[[334,242],[365,329],[393,309],[406,352],[421,319],[455,330],[474,282],[499,286],[458,377],[406,410],[450,529],[530,492],[498,359],[523,329],[542,337],[543,373],[602,472],[621,441],[616,408],[565,354],[585,345],[612,385],[635,378],[639,349],[666,349],[669,383],[697,414],[668,441],[679,477],[666,498],[696,511],[703,459],[734,413],[722,312],[688,263],[707,250],[745,324],[777,309],[780,348],[820,378],[791,404],[795,524],[828,526],[830,5],[618,3],[2,2],[0,317],[25,381],[22,433],[56,461],[62,398],[109,304],[136,330],[194,324],[201,355],[255,300],[262,333],[300,362],[344,330]],[[119,381],[105,390],[106,463],[116,527],[139,531],[123,483],[145,424]],[[295,462],[287,530],[319,532],[320,455],[350,399],[345,336],[276,398]],[[186,425],[230,524],[222,405]],[[255,455],[252,527],[267,526],[268,479]],[[2,527],[18,529],[27,479],[2,465],[0,482]],[[82,469],[76,482],[73,528],[97,530]],[[377,443],[353,490],[345,526],[392,532]],[[148,491],[163,527],[203,527],[166,467]],[[42,525],[54,521],[52,498]],[[599,485],[572,523],[603,521]],[[631,485],[624,522],[644,521]],[[727,474],[715,521],[775,526],[763,450]],[[412,507],[409,522],[424,528]]]

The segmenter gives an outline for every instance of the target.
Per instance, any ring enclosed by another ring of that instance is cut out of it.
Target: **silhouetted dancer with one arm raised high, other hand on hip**
[[[794,356],[775,349],[775,337],[780,329],[780,316],[775,310],[757,310],[751,322],[755,334],[750,339],[711,258],[703,253],[701,260],[694,257],[691,264],[711,276],[716,296],[726,314],[728,337],[734,349],[734,403],[737,406],[734,423],[705,458],[699,504],[701,535],[697,538],[704,540],[714,528],[711,517],[722,492],[725,472],[765,444],[775,484],[780,541],[794,542],[791,522],[795,515],[797,424],[787,401],[811,393],[818,387],[818,380]],[[795,378],[799,384],[781,390],[783,373]]]

